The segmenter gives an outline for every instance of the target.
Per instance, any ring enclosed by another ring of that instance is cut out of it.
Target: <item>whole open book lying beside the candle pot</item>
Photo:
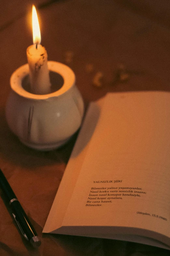
[[[43,232],[170,249],[170,93],[88,108]]]

